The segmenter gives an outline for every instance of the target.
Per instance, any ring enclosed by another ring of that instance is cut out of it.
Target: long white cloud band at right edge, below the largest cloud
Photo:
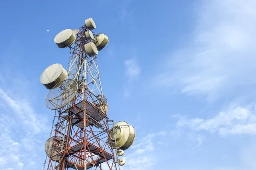
[[[256,110],[255,107],[231,106],[227,111],[221,111],[212,119],[188,119],[180,116],[176,127],[188,127],[194,131],[218,132],[221,136],[256,134]]]

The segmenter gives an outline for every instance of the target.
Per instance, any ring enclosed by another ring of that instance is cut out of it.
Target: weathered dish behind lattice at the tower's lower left
[[[50,157],[51,155],[54,156],[56,155],[58,152],[61,151],[61,147],[62,147],[62,142],[63,142],[63,138],[61,138],[60,136],[56,137],[58,139],[58,141],[54,141],[53,144],[53,139],[54,136],[50,137],[46,142],[45,142],[45,152],[47,154],[48,157]],[[58,162],[61,159],[61,156],[54,156],[52,157],[53,161]]]

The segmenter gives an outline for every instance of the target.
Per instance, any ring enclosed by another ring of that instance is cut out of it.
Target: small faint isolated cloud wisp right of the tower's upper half
[[[128,81],[136,80],[140,75],[140,66],[135,58],[128,59],[125,61],[125,76]]]

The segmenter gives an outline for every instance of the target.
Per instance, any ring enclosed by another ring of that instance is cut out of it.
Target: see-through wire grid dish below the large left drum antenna
[[[62,108],[71,102],[78,89],[77,82],[73,79],[66,79],[55,86],[49,91],[45,100],[47,108],[52,110]]]

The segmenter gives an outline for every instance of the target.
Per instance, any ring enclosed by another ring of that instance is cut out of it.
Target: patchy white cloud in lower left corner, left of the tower
[[[0,88],[0,129],[3,129],[0,133],[1,168],[36,169],[36,164],[30,162],[43,164],[40,154],[44,153],[44,141],[41,137],[48,136],[49,129],[46,118],[35,113],[25,99],[16,99],[17,96],[11,97]]]

